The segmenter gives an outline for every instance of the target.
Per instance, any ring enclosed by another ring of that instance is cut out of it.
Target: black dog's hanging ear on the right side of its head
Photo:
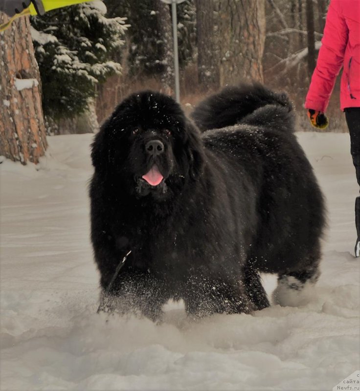
[[[190,176],[197,180],[203,172],[205,155],[203,141],[200,138],[200,131],[190,122],[186,124],[187,143],[186,153],[189,160]]]

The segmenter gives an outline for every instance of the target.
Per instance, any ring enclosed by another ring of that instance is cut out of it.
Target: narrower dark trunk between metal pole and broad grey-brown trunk
[[[214,32],[214,3],[195,0],[198,47],[198,80],[202,90],[219,87],[219,61]]]

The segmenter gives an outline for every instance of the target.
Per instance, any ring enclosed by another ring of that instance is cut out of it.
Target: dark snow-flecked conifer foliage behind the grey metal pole
[[[172,24],[171,8],[160,0],[105,0],[110,16],[128,18],[128,66],[132,75],[159,76],[172,74]],[[196,40],[196,12],[193,0],[177,6],[179,62],[184,67],[192,61]],[[164,12],[168,17],[164,17]],[[170,34],[167,34],[167,31]],[[169,37],[170,35],[170,37]],[[170,40],[169,40],[170,38]],[[171,52],[169,53],[169,44]]]

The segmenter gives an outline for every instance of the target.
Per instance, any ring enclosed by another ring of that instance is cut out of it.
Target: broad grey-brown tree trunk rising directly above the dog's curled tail
[[[263,81],[265,0],[217,0],[220,84]]]

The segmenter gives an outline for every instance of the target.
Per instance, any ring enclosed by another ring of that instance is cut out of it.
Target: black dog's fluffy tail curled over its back
[[[293,105],[285,93],[276,93],[259,83],[225,87],[201,102],[192,113],[200,130],[235,124],[266,126],[293,132]]]

